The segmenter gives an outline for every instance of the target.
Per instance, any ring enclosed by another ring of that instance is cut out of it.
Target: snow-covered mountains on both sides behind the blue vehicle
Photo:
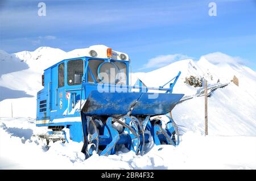
[[[81,57],[85,50],[86,48],[82,48],[64,52],[58,48],[39,47],[32,52],[22,51],[14,54],[8,54],[1,50],[0,116],[10,116],[10,107],[13,104],[14,116],[35,117],[35,96],[36,92],[43,88],[41,85],[43,70],[64,58]],[[207,60],[207,56],[202,56],[199,61],[192,59],[176,61],[147,73],[133,73],[131,82],[134,84],[140,78],[146,86],[158,87],[175,77],[179,71],[181,71],[181,75],[174,87],[174,93],[193,95],[197,92],[199,87],[192,87],[184,83],[185,78],[191,75],[205,78],[209,84],[214,84],[217,81],[230,82],[235,75],[240,86],[233,87],[233,89],[243,91],[243,95],[238,99],[244,100],[246,96],[250,96],[248,102],[256,99],[256,91],[253,91],[256,90],[255,71],[237,63],[212,64]],[[30,103],[26,107],[22,106],[24,99]],[[28,108],[32,111],[26,111]]]

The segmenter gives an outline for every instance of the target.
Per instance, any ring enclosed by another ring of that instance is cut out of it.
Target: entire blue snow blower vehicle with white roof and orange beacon
[[[49,141],[84,142],[86,158],[93,152],[115,154],[124,145],[143,154],[156,145],[179,145],[179,131],[170,115],[184,94],[172,94],[180,72],[168,88],[146,87],[138,79],[129,85],[130,59],[104,45],[84,49],[84,57],[69,58],[44,70],[44,89],[37,95],[36,126]]]

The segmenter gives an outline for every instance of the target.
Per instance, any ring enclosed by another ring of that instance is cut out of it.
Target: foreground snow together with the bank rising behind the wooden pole
[[[243,95],[243,96],[240,96]],[[173,116],[183,136],[176,148],[147,148],[143,156],[119,151],[85,159],[82,143],[55,142],[47,150],[34,134],[34,119],[0,118],[1,169],[256,169],[255,101],[231,84],[209,98],[209,136],[204,136],[204,98],[178,104]],[[239,106],[238,106],[239,105]],[[18,150],[18,151],[17,151]],[[54,161],[54,162],[52,162]],[[51,164],[49,164],[51,162]]]

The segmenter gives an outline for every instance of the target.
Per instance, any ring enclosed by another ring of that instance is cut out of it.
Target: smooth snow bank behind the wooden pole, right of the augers
[[[210,135],[256,136],[256,100],[233,83],[213,92],[208,98]],[[186,100],[172,111],[181,133],[204,133],[204,96]]]

